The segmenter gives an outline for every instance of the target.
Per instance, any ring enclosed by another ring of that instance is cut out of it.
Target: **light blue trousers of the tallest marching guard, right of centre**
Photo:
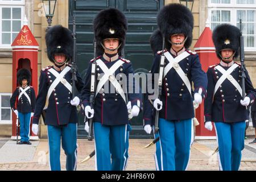
[[[161,169],[184,171],[187,169],[190,147],[193,142],[193,119],[168,121],[159,119],[159,144]],[[159,155],[156,153],[156,155]],[[157,167],[156,166],[156,167]],[[160,169],[160,168],[159,168]]]

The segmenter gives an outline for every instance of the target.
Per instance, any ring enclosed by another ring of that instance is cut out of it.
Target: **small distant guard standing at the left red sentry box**
[[[22,68],[17,72],[18,87],[14,90],[10,99],[11,109],[20,122],[20,142],[18,144],[31,144],[30,142],[30,119],[35,110],[35,90],[30,86],[31,72]],[[17,101],[15,107],[15,102]]]

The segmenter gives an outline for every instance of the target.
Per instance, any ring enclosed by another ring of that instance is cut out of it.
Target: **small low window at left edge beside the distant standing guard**
[[[10,93],[0,93],[0,124],[11,124]]]

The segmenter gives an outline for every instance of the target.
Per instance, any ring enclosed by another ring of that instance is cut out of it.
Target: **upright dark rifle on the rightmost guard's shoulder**
[[[241,62],[241,81],[242,81],[242,98],[245,98],[245,45],[243,42],[243,35],[242,35],[242,20],[240,19],[240,62]]]

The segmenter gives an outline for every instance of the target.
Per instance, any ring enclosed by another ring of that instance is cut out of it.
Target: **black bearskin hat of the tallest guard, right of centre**
[[[187,7],[178,3],[166,5],[159,11],[157,22],[166,40],[170,40],[171,35],[183,33],[187,37],[184,47],[191,46],[194,19],[192,12]],[[171,47],[170,42],[166,43]]]

